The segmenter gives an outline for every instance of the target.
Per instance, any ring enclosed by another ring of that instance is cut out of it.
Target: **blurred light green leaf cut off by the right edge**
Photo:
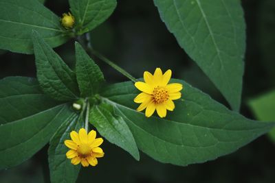
[[[249,106],[256,119],[261,121],[275,121],[275,90],[265,93],[254,99],[250,99]],[[275,143],[275,128],[268,133],[270,139]]]

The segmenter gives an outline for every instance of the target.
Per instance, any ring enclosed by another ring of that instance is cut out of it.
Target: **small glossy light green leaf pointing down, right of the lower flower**
[[[140,160],[140,154],[135,144],[133,134],[122,117],[118,117],[113,113],[113,106],[107,103],[101,103],[91,108],[90,123],[94,125],[100,135],[104,136],[109,142],[128,151],[136,160]]]

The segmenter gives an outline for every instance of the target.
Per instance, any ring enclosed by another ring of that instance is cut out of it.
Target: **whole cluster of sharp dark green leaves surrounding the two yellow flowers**
[[[233,110],[241,102],[245,23],[238,0],[155,0],[179,45],[210,77]],[[181,166],[229,154],[269,132],[274,123],[246,119],[182,80],[183,99],[166,119],[137,112],[133,82],[107,84],[100,68],[76,42],[76,69],[52,47],[81,36],[106,20],[115,0],[69,0],[76,19],[64,29],[60,18],[37,0],[0,0],[0,48],[34,53],[37,80],[0,81],[0,169],[16,166],[50,141],[52,182],[74,182],[79,166],[67,160],[69,132],[89,121],[100,135],[139,160],[139,150],[160,162]],[[214,6],[213,6],[214,4]],[[78,112],[72,104],[79,102]],[[108,152],[106,152],[108,154]]]

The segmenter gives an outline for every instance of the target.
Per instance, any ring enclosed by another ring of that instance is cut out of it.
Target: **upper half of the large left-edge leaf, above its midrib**
[[[29,117],[61,104],[43,94],[39,83],[30,77],[0,80],[0,124]]]

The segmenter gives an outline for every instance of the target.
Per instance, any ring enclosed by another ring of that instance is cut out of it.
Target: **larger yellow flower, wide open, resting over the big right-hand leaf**
[[[173,100],[179,99],[182,89],[182,84],[168,84],[172,71],[169,69],[162,75],[162,70],[155,69],[154,75],[148,71],[144,72],[145,82],[135,82],[135,87],[141,90],[142,93],[135,97],[135,103],[141,103],[137,111],[142,111],[146,108],[145,116],[151,117],[157,110],[159,117],[166,117],[166,110],[173,111],[175,103]]]

